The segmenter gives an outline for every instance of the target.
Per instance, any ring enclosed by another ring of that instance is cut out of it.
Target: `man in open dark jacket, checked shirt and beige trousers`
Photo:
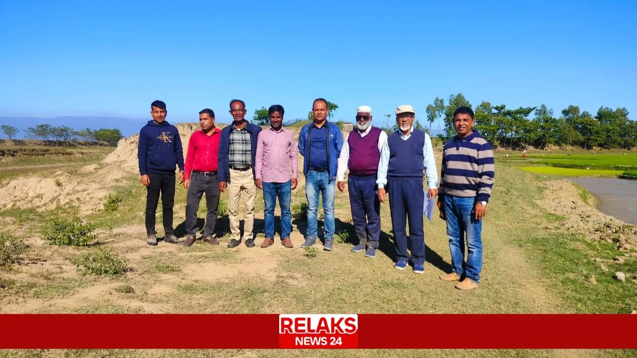
[[[230,114],[233,124],[221,130],[219,155],[217,157],[217,175],[219,190],[228,189],[228,217],[230,219],[231,240],[228,247],[237,247],[241,243],[239,231],[239,203],[245,204],[243,238],[247,247],[254,247],[254,198],[255,157],[257,155],[257,137],[261,127],[245,120],[245,103],[240,99],[230,101]]]

